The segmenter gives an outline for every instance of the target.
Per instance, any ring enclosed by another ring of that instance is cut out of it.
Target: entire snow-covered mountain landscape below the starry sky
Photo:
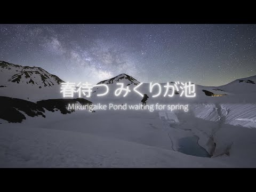
[[[256,76],[218,87],[195,85],[195,98],[180,97],[180,91],[163,97],[166,83],[156,98],[158,89],[150,93],[149,83],[138,87],[148,94],[147,105],[188,104],[187,112],[71,113],[70,102],[141,103],[133,91],[140,82],[120,74],[98,83],[109,87],[104,97],[97,97],[106,91],[99,86],[88,100],[63,99],[61,80],[41,68],[2,61],[0,70],[0,167],[256,167]],[[131,92],[115,96],[116,83]]]

